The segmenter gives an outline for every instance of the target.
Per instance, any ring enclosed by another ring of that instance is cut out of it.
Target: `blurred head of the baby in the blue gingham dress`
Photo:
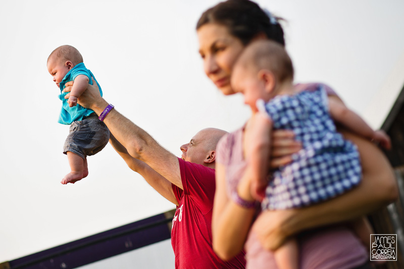
[[[285,48],[271,40],[249,44],[237,59],[231,76],[235,92],[244,95],[244,102],[257,111],[258,99],[269,101],[293,81],[293,65]]]

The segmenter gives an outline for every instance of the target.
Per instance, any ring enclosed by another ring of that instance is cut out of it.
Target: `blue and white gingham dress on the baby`
[[[359,184],[359,152],[336,132],[322,86],[265,104],[274,129],[293,130],[303,149],[272,174],[263,209],[307,206],[340,195]]]

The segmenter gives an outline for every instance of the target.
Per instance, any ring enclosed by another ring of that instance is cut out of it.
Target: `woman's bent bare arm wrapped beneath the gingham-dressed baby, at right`
[[[359,148],[363,169],[361,184],[317,205],[263,212],[252,229],[266,249],[277,249],[286,238],[301,231],[355,219],[397,199],[395,177],[384,154],[365,138],[345,130],[341,133]]]

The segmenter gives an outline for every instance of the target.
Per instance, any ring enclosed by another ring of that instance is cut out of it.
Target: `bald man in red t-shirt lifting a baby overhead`
[[[128,166],[166,199],[177,205],[171,242],[176,268],[244,268],[244,253],[221,260],[212,248],[212,208],[215,194],[216,144],[225,131],[208,128],[181,146],[182,159],[118,113],[95,91],[87,105],[111,131],[111,144]],[[95,93],[95,94],[94,94]],[[91,100],[92,99],[92,100]],[[108,110],[104,110],[107,107]]]

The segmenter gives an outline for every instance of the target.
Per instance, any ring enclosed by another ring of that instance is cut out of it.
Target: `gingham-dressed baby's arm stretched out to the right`
[[[328,105],[331,117],[335,122],[371,141],[379,142],[384,148],[389,149],[391,147],[390,138],[386,133],[382,130],[374,131],[358,114],[348,109],[338,98],[330,96]]]

